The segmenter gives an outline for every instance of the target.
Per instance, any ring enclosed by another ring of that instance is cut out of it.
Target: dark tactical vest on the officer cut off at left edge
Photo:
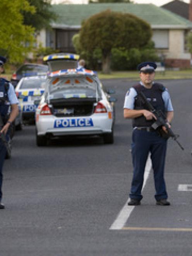
[[[7,114],[9,110],[9,105],[6,103],[8,99],[9,81],[4,78],[0,78],[0,114],[2,116],[3,122],[6,122]]]

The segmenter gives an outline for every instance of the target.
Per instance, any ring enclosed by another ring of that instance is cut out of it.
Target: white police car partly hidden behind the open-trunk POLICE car
[[[38,107],[34,101],[40,100],[44,93],[46,79],[47,76],[23,77],[17,84],[15,92],[20,101],[22,120],[34,120],[35,110]]]

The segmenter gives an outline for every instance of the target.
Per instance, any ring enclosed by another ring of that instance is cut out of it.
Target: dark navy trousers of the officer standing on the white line
[[[167,139],[160,137],[157,132],[134,129],[132,134],[132,161],[134,170],[130,191],[131,199],[142,199],[141,190],[149,153],[151,153],[156,191],[154,197],[156,200],[167,199],[164,180],[166,148]]]

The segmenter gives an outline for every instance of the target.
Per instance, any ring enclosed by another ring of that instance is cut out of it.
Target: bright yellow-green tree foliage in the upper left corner
[[[0,52],[9,62],[22,62],[33,47],[34,28],[23,24],[22,11],[34,13],[27,0],[3,0],[0,4]]]

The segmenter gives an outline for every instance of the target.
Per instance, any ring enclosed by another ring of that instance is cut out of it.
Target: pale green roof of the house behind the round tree
[[[93,14],[111,9],[116,12],[127,12],[147,21],[152,28],[192,28],[192,22],[177,14],[153,4],[134,3],[91,3],[91,4],[57,4],[52,5],[57,14],[55,25],[81,26],[81,22]]]

